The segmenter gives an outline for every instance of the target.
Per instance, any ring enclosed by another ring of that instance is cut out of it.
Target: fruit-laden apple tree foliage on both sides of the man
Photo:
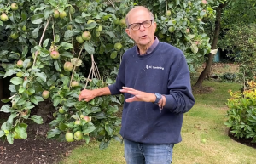
[[[10,115],[1,127],[0,138],[10,144],[14,139],[26,139],[26,120],[43,122],[40,116],[31,116],[31,111],[38,103],[50,101],[56,117],[50,123],[48,138],[64,139],[65,133],[80,131],[86,141],[91,136],[102,141],[102,148],[106,147],[110,139],[116,138],[113,132],[119,119],[114,116],[118,110],[115,104],[123,101],[122,96],[118,99],[106,96],[85,103],[78,102],[79,91],[112,83],[108,77],[113,70],[117,71],[125,50],[134,45],[119,20],[134,5],[147,2],[18,0],[15,3],[18,8],[11,7],[13,2],[0,1],[3,15],[0,60],[4,69],[0,76],[12,76],[9,86],[12,96],[3,99],[9,104],[1,108]],[[201,0],[167,4],[159,0],[147,6],[155,14],[160,40],[181,48],[190,71],[194,71],[210,51],[201,19],[212,14],[211,6]],[[166,7],[172,8],[171,15],[165,14]],[[116,43],[121,45],[120,49],[114,46]],[[91,122],[85,122],[81,115],[91,116]]]

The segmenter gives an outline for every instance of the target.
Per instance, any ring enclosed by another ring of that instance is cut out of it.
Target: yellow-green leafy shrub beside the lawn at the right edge
[[[230,133],[236,138],[253,139],[256,142],[256,83],[247,82],[249,88],[243,93],[230,91],[227,111],[228,120],[224,124],[230,127]]]

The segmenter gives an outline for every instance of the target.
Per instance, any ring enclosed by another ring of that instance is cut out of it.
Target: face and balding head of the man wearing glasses
[[[137,8],[129,14],[129,24],[142,23],[145,20],[152,20],[147,10],[143,8]],[[154,31],[156,29],[156,23],[152,22],[152,25],[145,28],[143,25],[140,26],[139,30],[132,30],[131,27],[126,29],[126,33],[133,39],[138,47],[146,46],[149,48],[154,42]]]

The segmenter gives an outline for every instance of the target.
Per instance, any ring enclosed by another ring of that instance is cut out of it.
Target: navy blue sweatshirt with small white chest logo
[[[116,82],[108,88],[112,95],[123,87],[166,97],[161,110],[148,102],[124,103],[120,134],[123,138],[144,144],[176,144],[181,139],[183,113],[195,104],[189,68],[183,52],[159,42],[147,55],[138,55],[137,46],[123,55]],[[133,95],[125,93],[125,99]]]

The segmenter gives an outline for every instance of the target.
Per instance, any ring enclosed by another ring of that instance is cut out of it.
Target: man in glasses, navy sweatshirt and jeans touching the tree
[[[127,164],[170,164],[174,144],[181,142],[183,113],[195,104],[183,52],[154,37],[156,23],[148,8],[126,15],[125,32],[136,42],[123,55],[116,82],[84,89],[79,101],[125,93],[120,135]]]

